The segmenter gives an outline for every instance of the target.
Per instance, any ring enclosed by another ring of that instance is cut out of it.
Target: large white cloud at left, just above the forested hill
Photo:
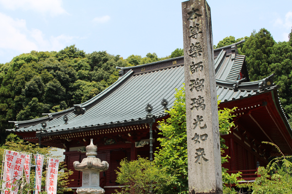
[[[18,54],[31,50],[58,51],[73,44],[78,37],[59,35],[46,38],[38,29],[27,29],[24,19],[14,19],[0,13],[0,55],[16,51]]]

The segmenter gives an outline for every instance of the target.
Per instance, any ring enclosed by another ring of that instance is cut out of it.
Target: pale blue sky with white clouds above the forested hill
[[[121,55],[183,48],[181,0],[0,0],[0,63],[37,51],[59,51],[75,44],[86,53]],[[208,0],[213,42],[226,36],[270,31],[287,41],[292,0]]]

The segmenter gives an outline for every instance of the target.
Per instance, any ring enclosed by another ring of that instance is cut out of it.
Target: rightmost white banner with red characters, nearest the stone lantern
[[[54,159],[54,158],[49,158],[48,161],[49,161],[49,164],[48,164],[47,179],[46,179],[46,192],[47,194],[56,194],[59,160]]]

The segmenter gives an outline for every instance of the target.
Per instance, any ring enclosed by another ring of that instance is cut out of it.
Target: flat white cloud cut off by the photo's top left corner
[[[62,8],[62,0],[0,0],[0,4],[9,10],[33,10],[39,13],[49,13],[52,16],[67,13]]]

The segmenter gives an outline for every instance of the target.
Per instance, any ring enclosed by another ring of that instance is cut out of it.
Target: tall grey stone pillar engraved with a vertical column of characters
[[[205,0],[182,3],[190,194],[221,194],[222,175],[211,12]]]

